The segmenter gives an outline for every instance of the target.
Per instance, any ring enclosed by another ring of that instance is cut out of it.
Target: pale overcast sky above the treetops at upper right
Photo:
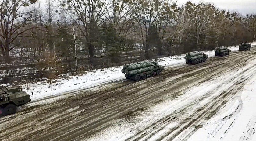
[[[177,0],[178,4],[185,4],[188,0]],[[211,2],[220,9],[230,11],[237,11],[243,15],[249,13],[256,13],[256,0],[190,0],[191,2],[198,3],[201,1]]]

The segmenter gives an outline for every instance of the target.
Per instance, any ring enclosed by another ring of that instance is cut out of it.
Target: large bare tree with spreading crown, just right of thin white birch
[[[66,13],[81,30],[86,39],[90,62],[94,62],[95,44],[97,43],[98,26],[105,21],[105,14],[110,2],[107,0],[55,0],[60,12]]]

